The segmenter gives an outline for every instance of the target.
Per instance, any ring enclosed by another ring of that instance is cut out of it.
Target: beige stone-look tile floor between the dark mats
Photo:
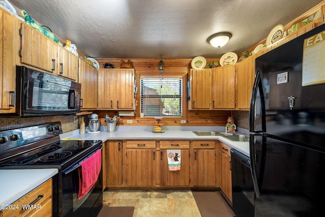
[[[134,217],[200,217],[191,191],[104,191],[103,205],[134,206]]]

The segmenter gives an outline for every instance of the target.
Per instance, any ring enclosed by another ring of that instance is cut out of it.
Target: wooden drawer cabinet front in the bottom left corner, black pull
[[[43,197],[42,197],[43,195]],[[22,205],[29,206],[23,209]],[[6,216],[51,216],[52,215],[52,178],[30,191],[13,205],[18,209],[3,210],[3,217]]]

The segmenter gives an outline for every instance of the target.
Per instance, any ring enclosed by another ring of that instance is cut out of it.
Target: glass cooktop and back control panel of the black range
[[[60,122],[0,132],[0,169],[64,170],[102,145],[101,140],[60,140]]]

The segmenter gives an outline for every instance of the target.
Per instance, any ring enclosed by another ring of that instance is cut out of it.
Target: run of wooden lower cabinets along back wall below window
[[[104,188],[219,188],[216,140],[106,141],[103,151]],[[168,150],[180,149],[181,170],[170,171]]]

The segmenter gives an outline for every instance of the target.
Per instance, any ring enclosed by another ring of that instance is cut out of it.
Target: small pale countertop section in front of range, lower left
[[[0,169],[0,211],[57,174],[58,169]],[[19,207],[21,208],[21,207]]]

